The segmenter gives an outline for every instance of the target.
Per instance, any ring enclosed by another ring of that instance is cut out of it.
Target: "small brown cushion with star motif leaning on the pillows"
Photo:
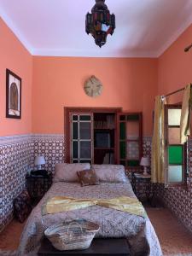
[[[99,183],[99,179],[96,177],[94,170],[84,170],[77,172],[79,182],[82,186],[96,185]]]

